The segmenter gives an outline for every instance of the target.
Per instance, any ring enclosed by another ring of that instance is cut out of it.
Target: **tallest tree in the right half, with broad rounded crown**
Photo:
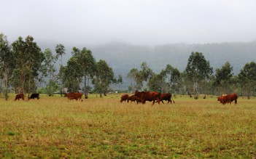
[[[203,53],[192,52],[187,60],[185,71],[188,79],[193,82],[193,91],[195,93],[195,99],[197,99],[201,81],[209,79],[212,75],[210,62],[206,61]]]

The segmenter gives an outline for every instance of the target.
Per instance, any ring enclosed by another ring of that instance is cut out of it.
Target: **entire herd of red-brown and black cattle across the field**
[[[82,93],[66,93],[64,94],[64,97],[67,97],[69,100],[71,99],[75,99],[75,100],[79,100],[82,102]],[[35,94],[31,94],[31,96],[29,97],[29,99],[39,99],[39,94],[35,93]],[[17,94],[15,97],[15,100],[24,100],[24,94]],[[233,101],[235,101],[235,104],[237,104],[237,99],[238,99],[238,95],[237,94],[222,94],[222,96],[217,97],[217,101],[220,101],[220,103],[222,103],[222,105],[228,104]],[[152,105],[155,104],[155,102],[158,102],[158,104],[160,105],[160,102],[163,102],[163,100],[168,101],[167,103],[172,103],[174,102],[174,99],[171,96],[171,93],[164,93],[161,94],[157,91],[135,91],[135,93],[131,96],[129,96],[128,94],[123,94],[121,96],[121,100],[120,102],[123,101],[131,101],[131,102],[136,102],[137,104],[141,103],[141,104],[145,104],[146,101],[150,101],[152,102]],[[175,103],[175,102],[174,102]]]

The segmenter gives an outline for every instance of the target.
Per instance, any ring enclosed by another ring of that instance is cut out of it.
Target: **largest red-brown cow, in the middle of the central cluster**
[[[157,101],[158,105],[160,105],[160,93],[158,93],[157,91],[135,91],[134,95],[141,99],[141,103],[143,105],[146,101],[153,101],[152,105],[154,105],[155,101]]]

